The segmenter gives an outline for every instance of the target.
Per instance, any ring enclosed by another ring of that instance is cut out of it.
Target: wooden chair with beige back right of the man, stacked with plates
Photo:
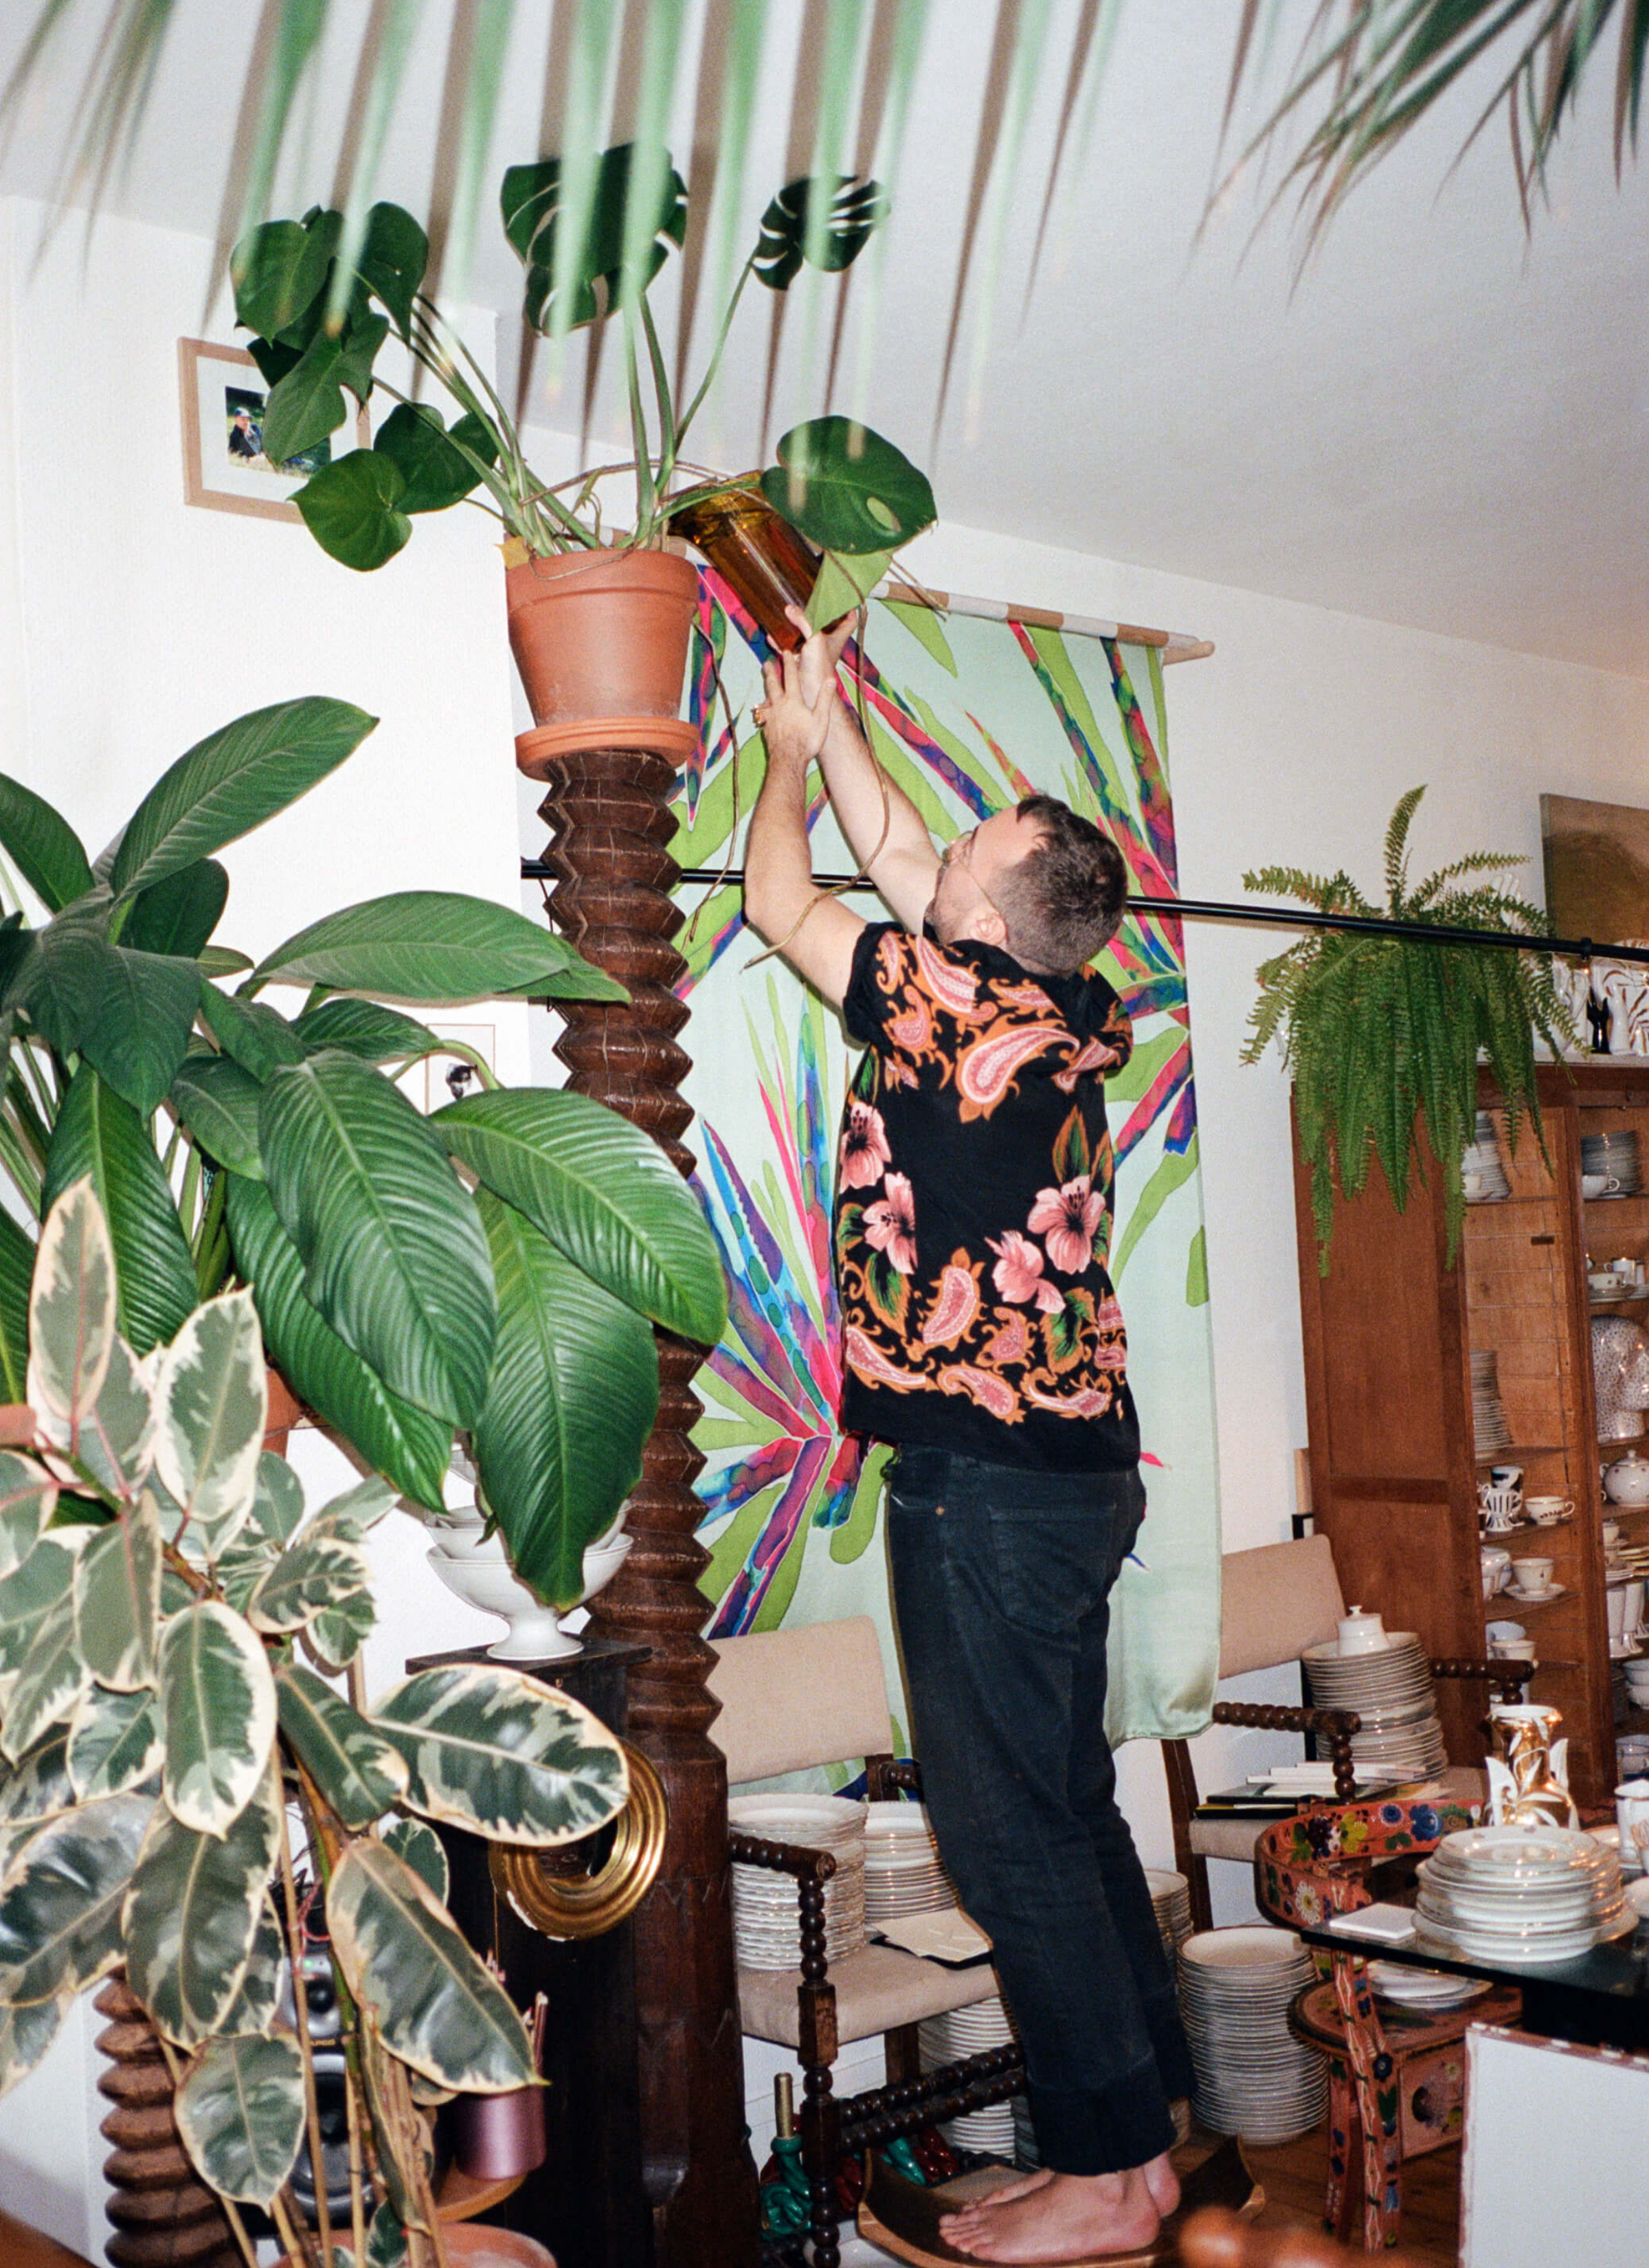
[[[1306,1535],[1291,1545],[1261,1545],[1257,1551],[1227,1551],[1220,1560],[1220,1678],[1250,1669],[1279,1669],[1297,1662],[1306,1647],[1336,1635],[1345,1615],[1341,1579],[1327,1535]],[[1379,1606],[1377,1599],[1368,1601]],[[1531,1662],[1463,1662],[1434,1660],[1434,1678],[1479,1678],[1508,1701],[1522,1699]],[[1345,1803],[1356,1785],[1352,1733],[1359,1719],[1350,1710],[1268,1708],[1248,1701],[1216,1701],[1214,1724],[1259,1726],[1272,1733],[1309,1733],[1327,1744],[1334,1765],[1334,1794]],[[1175,1867],[1191,1885],[1191,1919],[1211,1928],[1209,1867],[1211,1857],[1254,1862],[1254,1844],[1263,1819],[1195,1819],[1198,1778],[1184,1740],[1161,1744],[1168,1769],[1168,1814],[1173,1819]],[[1443,1774],[1452,1801],[1479,1803],[1483,1774],[1456,1767]]]

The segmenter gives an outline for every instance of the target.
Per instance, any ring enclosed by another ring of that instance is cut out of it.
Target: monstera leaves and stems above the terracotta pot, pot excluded
[[[411,538],[415,515],[476,499],[476,490],[485,490],[485,508],[526,551],[594,547],[606,540],[599,483],[612,472],[635,479],[635,526],[626,542],[658,542],[671,513],[728,485],[717,479],[678,485],[678,476],[746,284],[755,277],[783,293],[803,265],[848,268],[885,220],[887,200],[876,181],[835,175],[780,188],[685,406],[676,401],[646,299],[687,234],[687,188],[669,152],[624,143],[576,170],[560,159],[510,166],[501,211],[526,265],[524,315],[535,331],[565,336],[617,318],[631,463],[560,488],[540,481],[497,390],[424,295],[429,240],[401,206],[372,206],[354,256],[343,213],[320,209],[265,222],[234,249],[236,318],[254,333],[252,356],[270,386],[268,456],[290,458],[329,440],[347,420],[345,392],[365,404],[381,388],[397,401],[370,449],[322,465],[295,497],[311,535],[345,567],[381,567]],[[340,259],[352,261],[343,274]],[[379,374],[379,349],[390,333],[458,404],[451,426]],[[935,517],[925,476],[880,433],[846,417],[814,417],[785,433],[762,490],[773,510],[832,558],[832,587],[846,585],[844,603],[880,581],[891,551]]]

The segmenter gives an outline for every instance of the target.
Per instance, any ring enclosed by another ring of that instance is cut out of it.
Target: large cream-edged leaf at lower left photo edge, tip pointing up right
[[[0,1882],[0,2003],[91,1984],[120,1960],[120,1905],[154,1812],[109,1796],[48,1821]]]

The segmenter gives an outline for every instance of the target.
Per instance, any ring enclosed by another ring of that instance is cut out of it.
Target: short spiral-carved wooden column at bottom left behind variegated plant
[[[172,2075],[143,2003],[116,1975],[93,2007],[111,2019],[98,2034],[109,2057],[98,2093],[113,2102],[102,2123],[113,2268],[240,2268],[222,2204],[177,2139]]]

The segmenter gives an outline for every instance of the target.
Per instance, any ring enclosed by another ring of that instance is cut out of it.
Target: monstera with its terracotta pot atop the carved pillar
[[[567,227],[569,200],[587,227]],[[408,542],[413,517],[476,501],[504,528],[510,644],[540,726],[583,717],[676,717],[694,578],[665,540],[671,528],[714,544],[737,499],[739,544],[751,519],[778,517],[823,556],[819,603],[844,612],[880,581],[891,553],[935,517],[925,476],[882,435],[846,417],[817,417],[778,445],[778,465],[737,481],[692,481],[685,442],[721,365],[739,299],[755,277],[783,293],[803,263],[848,268],[887,215],[873,181],[801,179],[767,206],[703,379],[676,401],[649,284],[685,240],[687,188],[665,150],[626,143],[572,179],[560,159],[513,166],[501,188],[504,229],[526,265],[526,322],[565,336],[617,320],[628,376],[633,458],[567,483],[542,481],[513,417],[440,308],[424,295],[429,243],[395,204],[377,204],[358,247],[340,213],[272,220],[234,249],[236,318],[270,397],[265,449],[295,456],[345,424],[345,392],[374,388],[397,406],[370,449],[320,467],[295,501],[336,560],[374,569]],[[458,404],[447,426],[377,370],[390,331],[413,363]],[[651,395],[651,406],[649,406]],[[621,540],[601,510],[601,483],[628,474],[635,526]],[[758,531],[760,540],[760,531]],[[796,565],[796,562],[792,562]],[[769,628],[794,637],[785,596]]]

